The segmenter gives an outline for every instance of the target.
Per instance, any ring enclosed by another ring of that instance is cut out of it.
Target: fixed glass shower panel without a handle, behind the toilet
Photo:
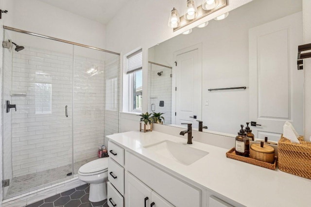
[[[98,159],[106,133],[119,131],[119,55],[74,46],[73,59],[73,159],[77,174],[83,164]]]

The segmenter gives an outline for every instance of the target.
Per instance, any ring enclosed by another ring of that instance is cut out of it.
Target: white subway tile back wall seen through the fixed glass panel
[[[74,162],[97,156],[104,144],[104,71],[104,61],[74,57]]]

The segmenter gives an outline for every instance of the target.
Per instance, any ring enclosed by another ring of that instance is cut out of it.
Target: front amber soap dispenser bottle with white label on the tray
[[[246,136],[243,127],[244,126],[241,125],[241,130],[235,138],[235,154],[249,157],[249,138]]]

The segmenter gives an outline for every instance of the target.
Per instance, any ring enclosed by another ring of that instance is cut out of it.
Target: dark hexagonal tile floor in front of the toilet
[[[94,203],[88,200],[88,195],[89,185],[85,184],[26,207],[108,207],[107,199]]]

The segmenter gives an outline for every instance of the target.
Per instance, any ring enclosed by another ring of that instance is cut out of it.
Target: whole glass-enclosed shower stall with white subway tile
[[[120,54],[8,27],[4,41],[7,199],[73,178],[98,159],[105,135],[120,128]]]

